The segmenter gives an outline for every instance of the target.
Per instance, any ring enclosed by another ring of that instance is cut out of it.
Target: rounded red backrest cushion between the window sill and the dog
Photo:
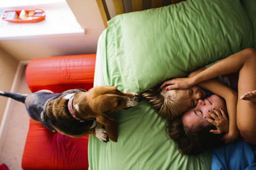
[[[28,87],[31,92],[89,90],[93,87],[95,59],[96,54],[33,59],[26,68]]]

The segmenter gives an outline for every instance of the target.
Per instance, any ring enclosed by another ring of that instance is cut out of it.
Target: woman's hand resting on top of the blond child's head
[[[168,85],[166,87],[166,90],[189,89],[189,87],[193,86],[193,79],[192,78],[174,78],[172,80],[167,80],[167,81],[164,81],[160,89],[162,89],[165,85]]]

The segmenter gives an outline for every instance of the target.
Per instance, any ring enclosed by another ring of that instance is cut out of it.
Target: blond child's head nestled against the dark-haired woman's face
[[[159,86],[142,93],[159,115],[168,120],[178,117],[189,108],[193,108],[199,99],[206,96],[205,91],[198,86],[189,89],[160,89]]]

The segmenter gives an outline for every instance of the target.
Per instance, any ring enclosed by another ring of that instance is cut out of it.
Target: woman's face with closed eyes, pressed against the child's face
[[[207,97],[204,100],[199,100],[195,108],[191,108],[189,111],[184,113],[184,115],[182,115],[182,122],[184,126],[194,127],[202,125],[205,127],[210,125],[210,123],[207,122],[204,117],[212,118],[209,115],[208,110],[212,111],[213,108],[217,111],[220,111],[220,108],[226,111],[225,101],[215,94]]]

